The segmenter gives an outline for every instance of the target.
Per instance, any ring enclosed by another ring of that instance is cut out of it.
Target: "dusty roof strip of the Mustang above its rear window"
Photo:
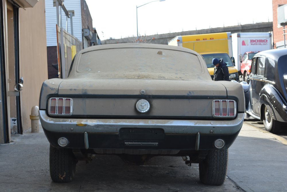
[[[169,49],[176,51],[185,51],[199,55],[197,52],[187,49],[185,47],[178,47],[172,45],[161,45],[161,44],[150,44],[150,43],[118,43],[118,44],[106,44],[106,45],[95,45],[79,51],[79,53],[86,53],[89,51],[101,50],[101,49],[119,49],[119,48],[151,48],[151,49]]]

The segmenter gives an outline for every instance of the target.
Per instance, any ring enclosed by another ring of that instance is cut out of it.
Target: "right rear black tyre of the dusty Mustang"
[[[228,149],[210,150],[199,163],[199,179],[206,185],[222,185],[225,181]]]

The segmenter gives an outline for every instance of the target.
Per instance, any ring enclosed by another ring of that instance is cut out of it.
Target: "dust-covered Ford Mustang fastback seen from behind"
[[[212,81],[195,51],[156,44],[79,51],[67,78],[43,82],[39,106],[55,182],[97,154],[136,164],[169,155],[199,163],[208,185],[224,183],[245,110],[239,83]]]

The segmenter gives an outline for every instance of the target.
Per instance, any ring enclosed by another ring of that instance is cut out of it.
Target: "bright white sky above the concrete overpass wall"
[[[86,0],[101,40],[272,22],[272,0]],[[148,3],[147,5],[144,5]],[[144,5],[142,7],[139,7]],[[137,8],[139,7],[139,8]],[[136,12],[137,11],[137,12]]]

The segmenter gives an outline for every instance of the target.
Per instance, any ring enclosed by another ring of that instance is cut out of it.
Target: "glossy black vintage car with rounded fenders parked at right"
[[[245,91],[246,112],[279,133],[287,122],[287,49],[261,51],[252,58]]]

